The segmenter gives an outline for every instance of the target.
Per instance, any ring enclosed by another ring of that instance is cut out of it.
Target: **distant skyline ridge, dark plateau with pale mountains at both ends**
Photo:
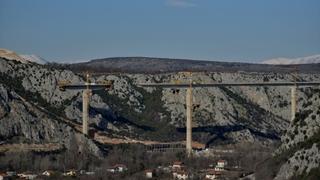
[[[0,57],[21,63],[48,64],[38,55],[19,55],[14,51],[0,49]],[[75,72],[98,73],[167,73],[167,72],[319,72],[320,55],[288,59],[275,58],[262,63],[222,62],[208,60],[172,59],[156,57],[111,57],[94,59],[88,62],[59,64],[55,66],[67,68]],[[299,65],[299,66],[297,66]]]

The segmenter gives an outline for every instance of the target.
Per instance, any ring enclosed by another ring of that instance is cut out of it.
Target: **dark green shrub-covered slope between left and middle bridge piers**
[[[127,80],[143,96],[138,99],[139,102],[145,105],[145,109],[143,109],[141,113],[132,110],[133,107],[127,104],[127,98],[121,99],[117,95],[106,93],[104,90],[96,91],[103,101],[110,105],[111,109],[117,109],[116,121],[125,120],[127,123],[131,123],[131,125],[136,127],[135,133],[144,139],[159,141],[169,141],[172,138],[177,140],[183,139],[183,133],[178,132],[177,129],[169,123],[170,114],[164,108],[161,100],[162,89],[156,89],[152,93],[149,93],[143,88],[134,86],[129,79]],[[161,120],[159,113],[164,114],[165,118]]]

